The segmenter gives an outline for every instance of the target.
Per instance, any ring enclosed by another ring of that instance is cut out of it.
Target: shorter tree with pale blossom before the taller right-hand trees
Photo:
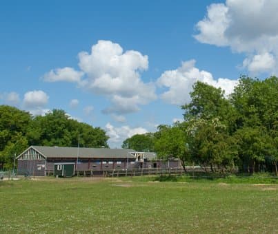
[[[237,160],[235,139],[226,132],[226,125],[218,118],[212,120],[193,119],[188,123],[190,152],[197,164],[211,171],[234,169]],[[217,167],[217,168],[215,168]]]

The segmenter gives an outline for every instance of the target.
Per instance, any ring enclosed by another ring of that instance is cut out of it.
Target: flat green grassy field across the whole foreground
[[[0,182],[0,233],[275,233],[278,184]]]

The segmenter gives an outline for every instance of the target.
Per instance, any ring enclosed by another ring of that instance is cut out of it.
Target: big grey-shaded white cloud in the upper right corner
[[[211,4],[196,25],[201,43],[229,46],[246,54],[243,62],[252,74],[278,72],[278,1],[227,0]]]

